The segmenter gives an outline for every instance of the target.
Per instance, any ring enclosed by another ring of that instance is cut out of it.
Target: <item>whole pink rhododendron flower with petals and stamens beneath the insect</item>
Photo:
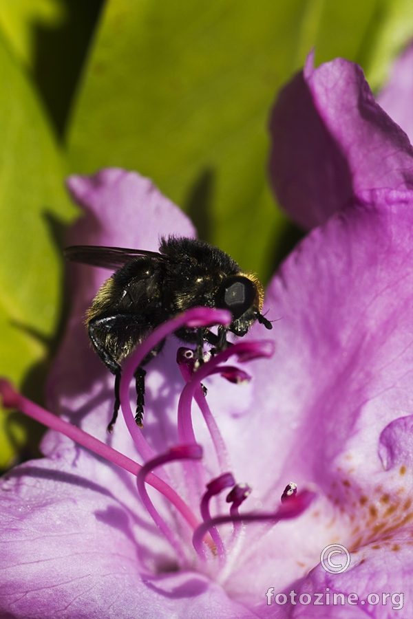
[[[2,616],[411,614],[413,150],[340,59],[308,60],[271,131],[275,191],[314,228],[268,287],[271,332],[253,325],[196,371],[169,337],[147,365],[141,433],[129,379],[148,340],[123,368],[125,417],[107,435],[113,376],[83,325],[107,272],[74,265],[48,387],[60,418],[1,383],[6,404],[54,428],[45,458],[1,482]],[[160,235],[194,235],[135,173],[69,188],[86,213],[71,244],[156,250]],[[201,308],[175,321],[229,319]],[[341,573],[319,563],[335,543],[350,551]]]

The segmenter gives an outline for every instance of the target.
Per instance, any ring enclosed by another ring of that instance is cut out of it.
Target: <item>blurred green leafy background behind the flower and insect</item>
[[[266,180],[268,115],[315,46],[374,90],[411,0],[0,0],[0,375],[41,402],[64,323],[68,173],[123,166],[262,280],[301,234]],[[139,222],[136,222],[139,225]],[[0,468],[39,430],[0,411]]]

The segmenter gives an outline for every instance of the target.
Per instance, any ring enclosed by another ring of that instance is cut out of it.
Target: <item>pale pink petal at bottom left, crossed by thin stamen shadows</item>
[[[83,450],[66,457],[0,483],[2,618],[251,618],[206,576],[173,572],[127,477]]]

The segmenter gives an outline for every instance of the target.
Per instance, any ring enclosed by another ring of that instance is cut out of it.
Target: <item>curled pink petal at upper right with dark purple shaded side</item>
[[[343,58],[304,72],[271,117],[270,175],[279,202],[313,228],[370,189],[413,187],[407,135],[374,101],[358,65]]]

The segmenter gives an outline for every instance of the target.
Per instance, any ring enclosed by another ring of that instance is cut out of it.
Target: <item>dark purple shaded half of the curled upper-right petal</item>
[[[348,203],[352,173],[303,72],[279,92],[270,131],[269,173],[279,204],[303,228],[318,226]]]

